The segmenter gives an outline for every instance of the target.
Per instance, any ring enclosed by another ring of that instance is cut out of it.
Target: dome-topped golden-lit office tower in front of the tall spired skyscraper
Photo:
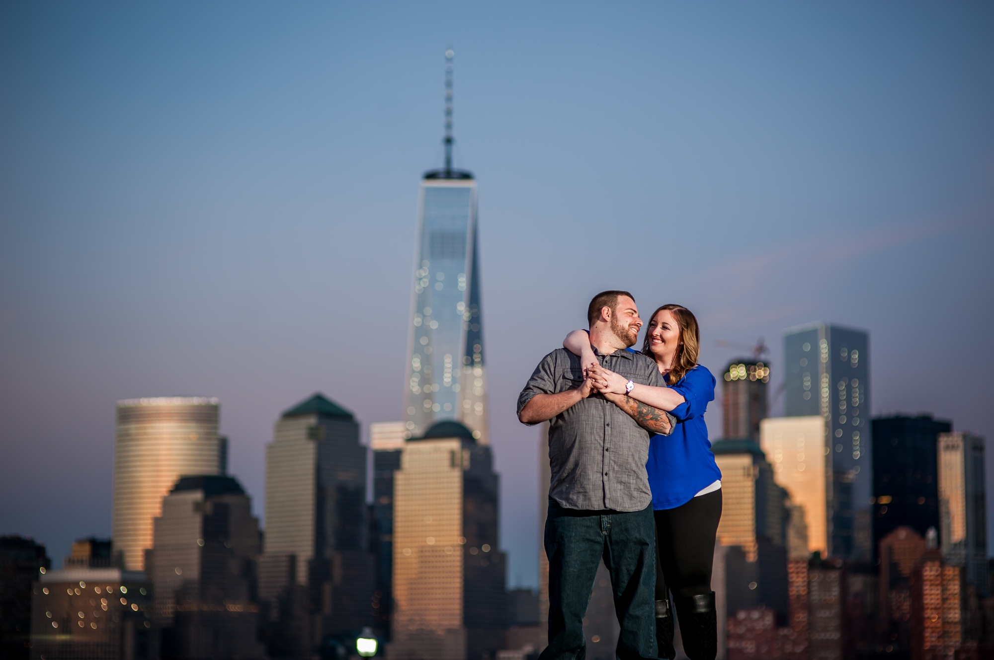
[[[490,447],[456,421],[404,445],[394,480],[390,657],[463,660],[504,648],[505,558]]]

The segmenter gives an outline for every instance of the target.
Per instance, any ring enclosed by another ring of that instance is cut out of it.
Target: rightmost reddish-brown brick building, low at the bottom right
[[[967,637],[965,574],[963,567],[947,564],[936,550],[926,550],[914,567],[910,580],[912,660],[957,656]]]

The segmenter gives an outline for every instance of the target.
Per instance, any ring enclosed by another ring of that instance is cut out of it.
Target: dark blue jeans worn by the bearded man
[[[549,500],[549,646],[539,660],[586,657],[583,616],[603,560],[621,624],[617,657],[656,658],[656,527],[652,506],[641,511],[578,511]]]

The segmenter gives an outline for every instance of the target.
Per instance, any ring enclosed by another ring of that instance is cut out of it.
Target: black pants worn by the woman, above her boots
[[[715,535],[722,519],[722,491],[691,499],[675,509],[653,512],[656,518],[656,600],[667,589],[675,596],[711,593]]]

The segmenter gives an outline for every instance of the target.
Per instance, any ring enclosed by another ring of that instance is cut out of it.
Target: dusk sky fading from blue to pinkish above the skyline
[[[602,289],[689,307],[716,373],[763,338],[774,388],[784,328],[865,329],[875,415],[994,438],[992,31],[980,2],[0,3],[0,534],[56,566],[109,536],[119,399],[220,398],[260,517],[282,411],[401,418],[448,47],[510,585],[541,499],[515,402]]]

